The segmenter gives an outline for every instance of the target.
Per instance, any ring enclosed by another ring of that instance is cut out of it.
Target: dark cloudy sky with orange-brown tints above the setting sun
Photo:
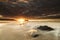
[[[0,2],[0,15],[6,17],[60,18],[60,0],[9,0]]]

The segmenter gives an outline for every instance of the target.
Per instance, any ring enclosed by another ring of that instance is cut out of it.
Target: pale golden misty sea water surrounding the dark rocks
[[[41,36],[37,38],[32,38],[30,33],[27,33],[34,28],[44,25],[54,28],[55,30],[47,34],[46,32],[35,32],[41,34]],[[0,25],[0,40],[60,40],[60,22],[28,21],[24,24],[17,22],[3,23]]]

